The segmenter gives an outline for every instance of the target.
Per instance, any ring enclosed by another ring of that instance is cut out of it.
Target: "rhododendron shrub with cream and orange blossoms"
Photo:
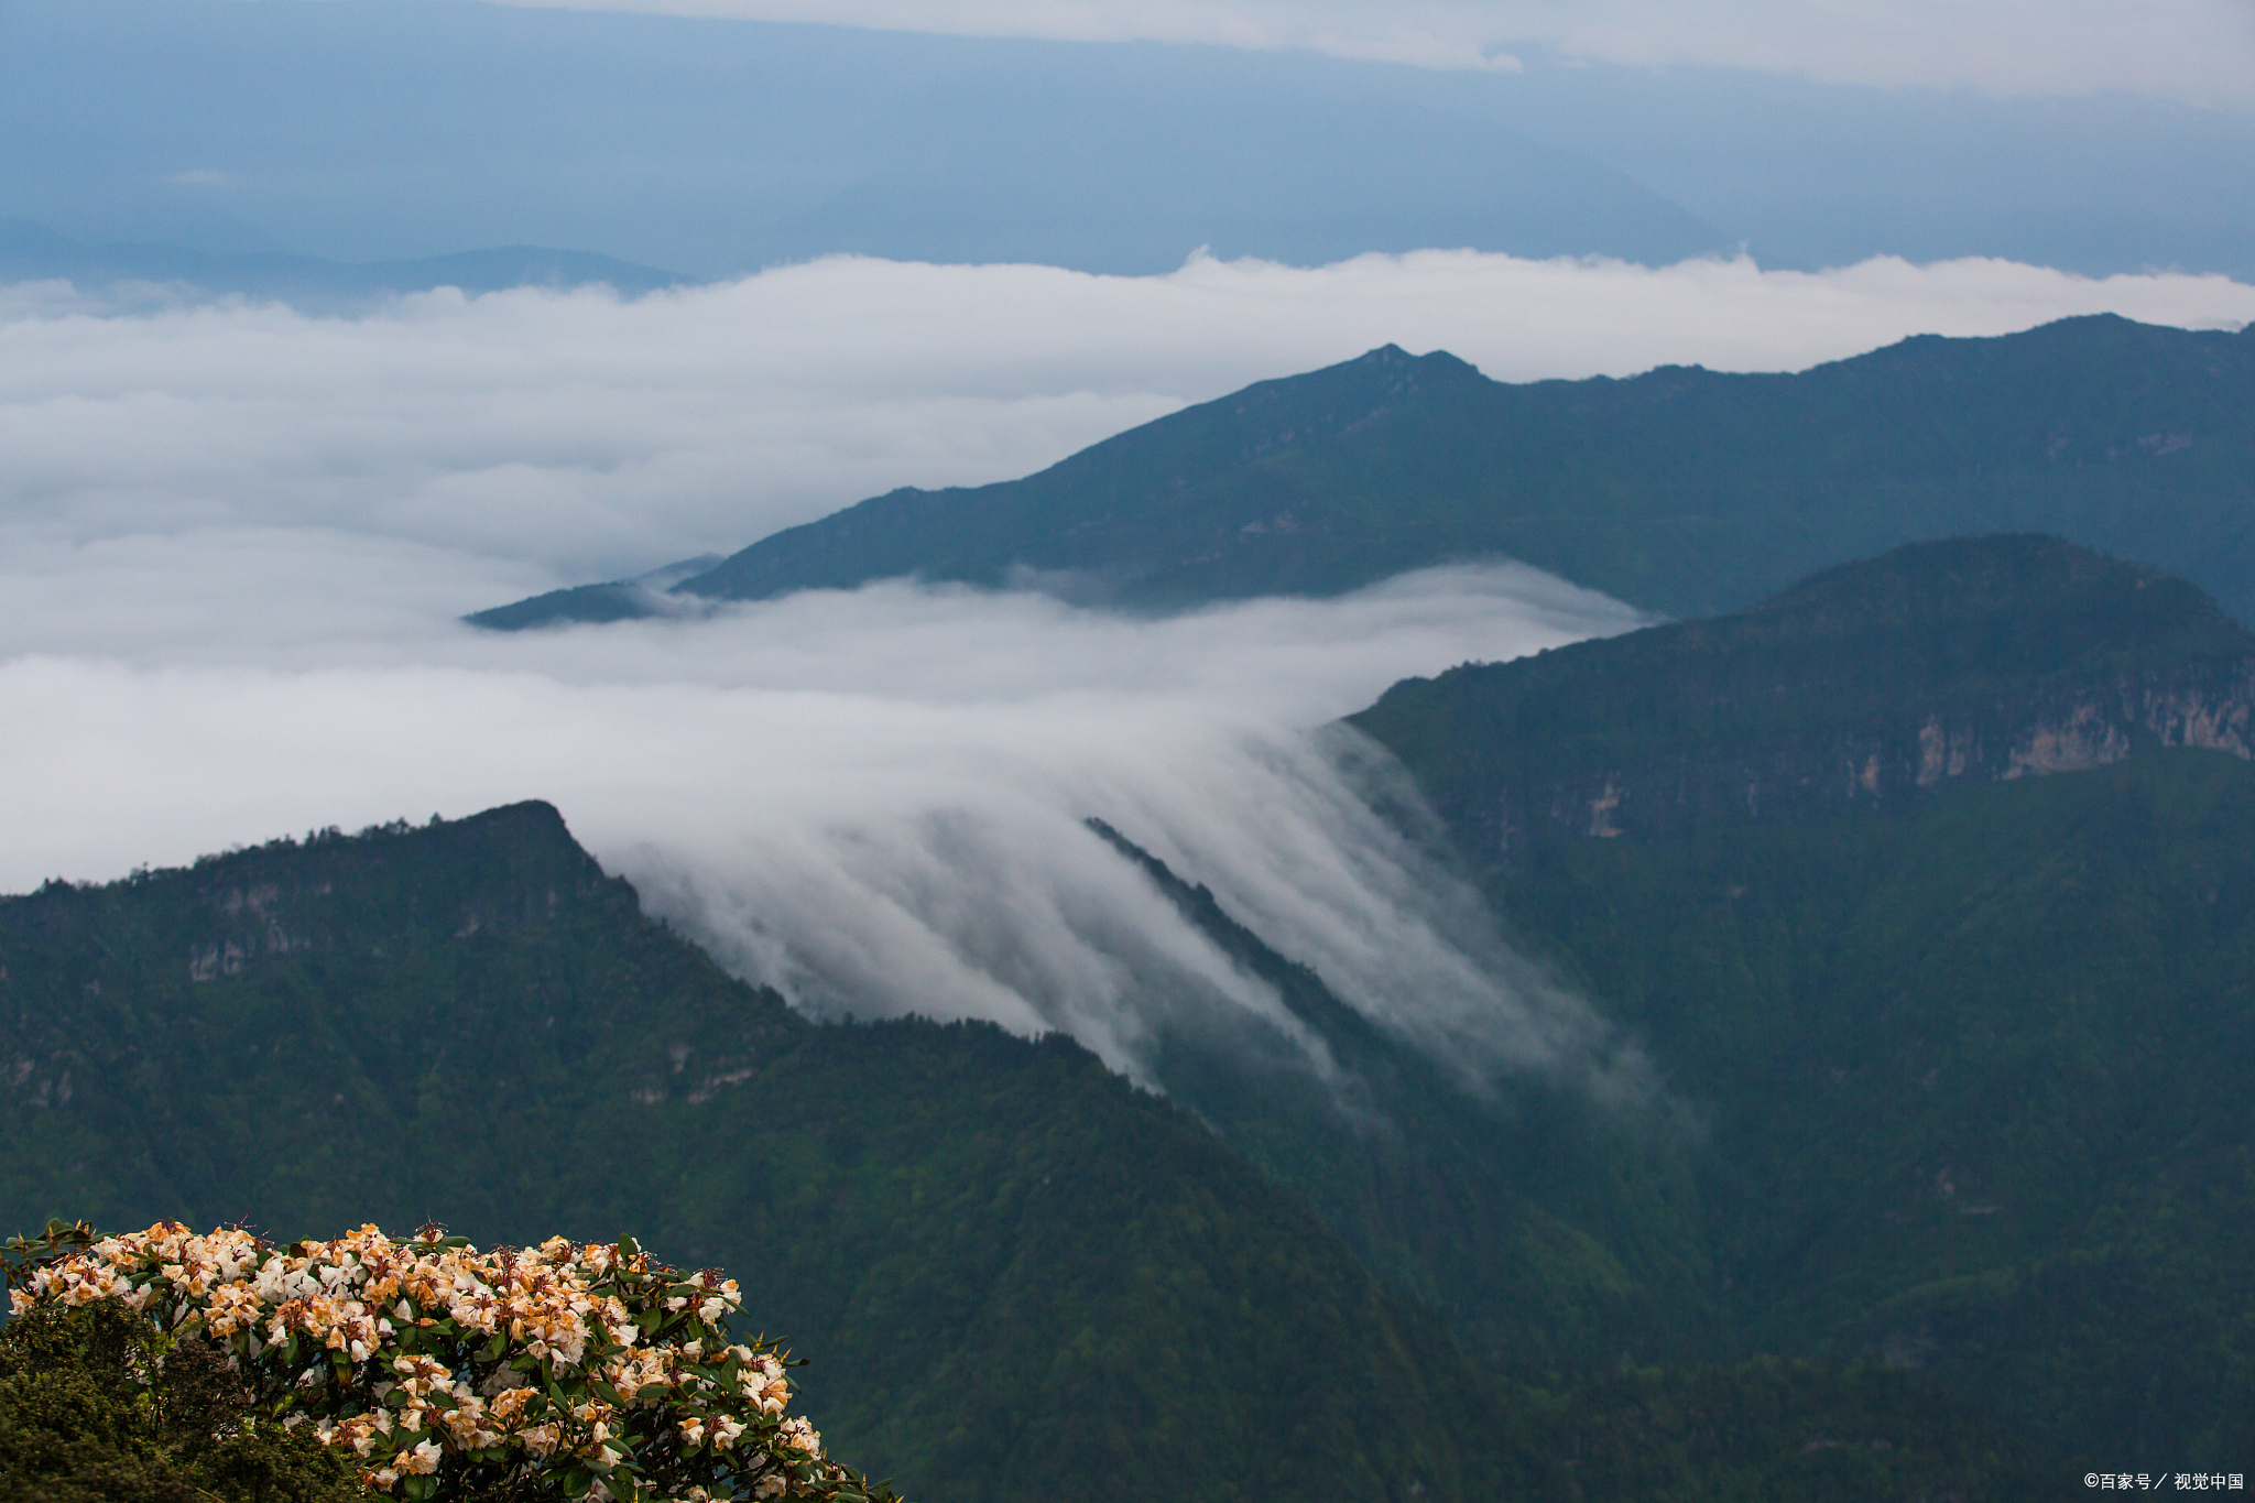
[[[735,1280],[634,1239],[480,1253],[435,1226],[275,1246],[162,1221],[9,1248],[16,1311],[120,1300],[232,1354],[275,1422],[399,1498],[821,1498],[891,1489],[789,1415],[787,1354],[731,1339]]]

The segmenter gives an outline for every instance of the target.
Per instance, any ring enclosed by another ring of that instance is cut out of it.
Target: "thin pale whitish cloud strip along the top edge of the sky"
[[[805,20],[886,32],[1308,47],[1518,70],[1518,50],[1639,68],[1748,68],[1998,95],[2255,104],[2244,0],[503,0],[541,9]]]

